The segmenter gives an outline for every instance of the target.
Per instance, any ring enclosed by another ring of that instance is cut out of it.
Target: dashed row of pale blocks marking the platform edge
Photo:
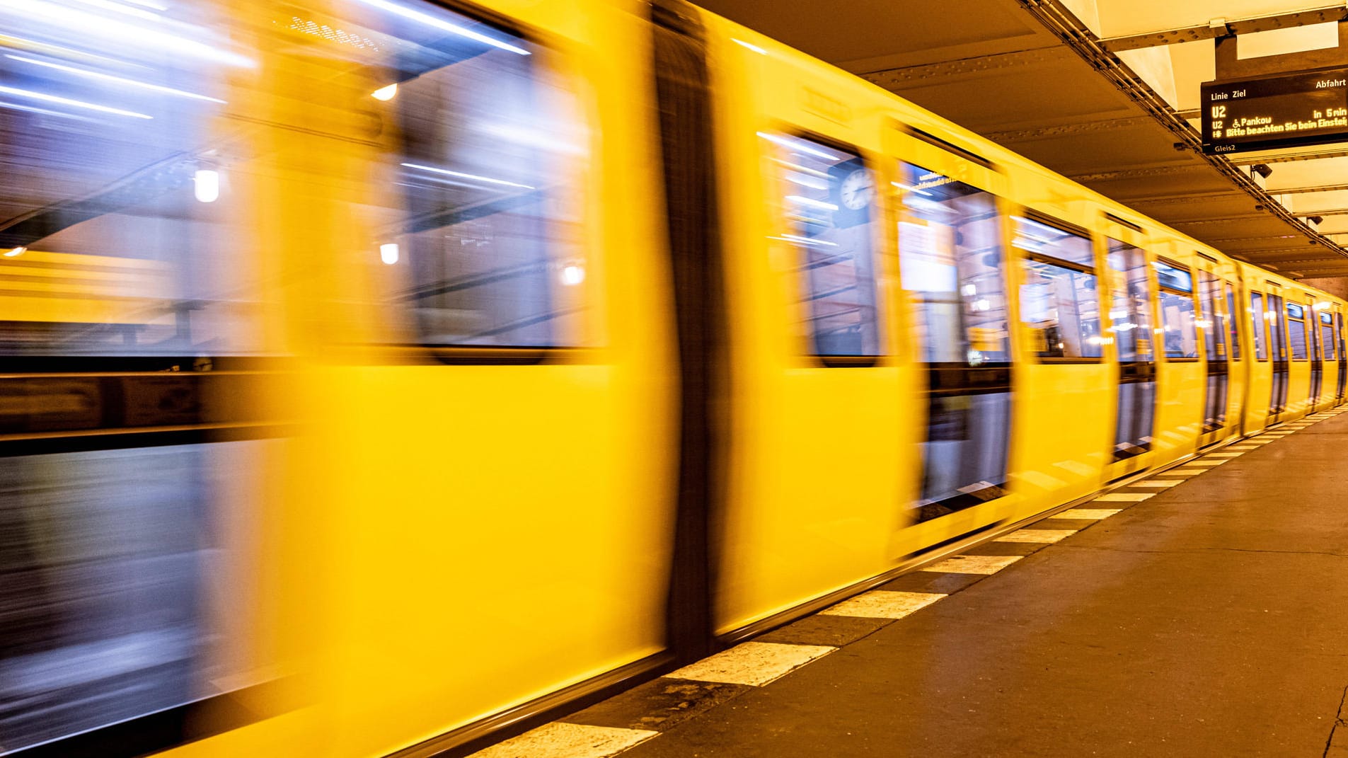
[[[1316,413],[1287,422],[1274,432],[1266,432],[1258,437],[1240,440],[1236,444],[1220,450],[1205,453],[1194,460],[1167,471],[1155,472],[1144,480],[1131,482],[1115,491],[1101,494],[1085,503],[1082,507],[1073,507],[1060,513],[1049,514],[1054,521],[1080,521],[1082,527],[1091,522],[1107,519],[1126,507],[1138,504],[1161,491],[1182,483],[1186,477],[1197,476],[1213,467],[1237,459],[1247,452],[1258,450],[1277,438],[1294,434],[1301,429],[1312,426],[1326,418],[1348,411],[1348,406]],[[1128,491],[1143,490],[1143,491]],[[1092,507],[1099,503],[1103,507]],[[1034,529],[1026,527],[1007,534],[1002,534],[989,542],[1010,544],[1042,544],[1051,545],[1060,542],[1078,530],[1076,529]],[[985,545],[980,544],[980,545]],[[975,545],[971,550],[977,550]],[[991,576],[1015,564],[1023,556],[980,556],[964,554],[944,558],[934,564],[922,566],[923,572],[954,573],[954,575],[983,575]],[[872,589],[830,606],[818,615],[844,616],[855,619],[886,619],[895,620],[921,611],[922,608],[946,597],[945,593],[936,592],[894,592]],[[724,682],[748,687],[763,687],[790,672],[809,665],[813,661],[838,650],[838,647],[825,645],[794,645],[779,642],[741,642],[729,650],[704,658],[677,672],[667,674],[673,680],[690,680],[705,682]],[[570,724],[554,722],[516,738],[508,739],[485,750],[473,753],[470,758],[609,758],[624,750],[646,742],[659,735],[658,731],[615,727],[593,727],[585,724]]]

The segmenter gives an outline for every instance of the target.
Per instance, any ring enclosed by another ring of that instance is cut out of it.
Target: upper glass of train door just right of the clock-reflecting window
[[[1011,360],[1002,224],[996,198],[909,163],[899,165],[903,289],[917,301],[926,363]]]

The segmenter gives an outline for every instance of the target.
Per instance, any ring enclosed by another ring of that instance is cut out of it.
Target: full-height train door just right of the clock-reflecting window
[[[927,366],[918,521],[1006,494],[1011,347],[991,193],[899,163],[899,263]]]

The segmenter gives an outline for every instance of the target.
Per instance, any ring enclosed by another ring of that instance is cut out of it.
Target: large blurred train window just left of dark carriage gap
[[[387,264],[423,345],[574,344],[585,262],[566,92],[524,39],[417,8],[435,22],[390,11],[363,13],[359,27],[381,46],[371,63],[383,103],[367,103],[400,136],[388,196],[402,208],[369,240],[369,259]]]

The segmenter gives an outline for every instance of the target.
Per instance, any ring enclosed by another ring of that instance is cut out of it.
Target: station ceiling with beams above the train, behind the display
[[[1295,63],[1339,45],[1343,0],[700,4],[1235,258],[1293,278],[1348,276],[1348,143],[1205,156],[1198,134],[1217,38],[1233,34],[1242,59]]]

